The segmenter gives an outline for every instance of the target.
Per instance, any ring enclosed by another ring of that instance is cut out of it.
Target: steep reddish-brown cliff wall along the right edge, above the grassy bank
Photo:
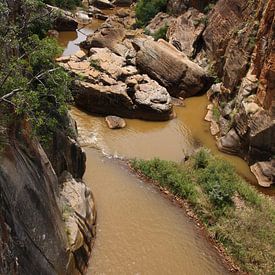
[[[274,7],[274,1],[220,0],[203,34],[206,56],[223,83],[214,96],[219,124],[227,128],[219,148],[244,157],[264,186],[275,180]]]

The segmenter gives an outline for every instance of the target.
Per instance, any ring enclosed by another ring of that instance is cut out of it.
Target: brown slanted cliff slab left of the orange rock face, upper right
[[[226,88],[235,89],[249,69],[252,40],[258,29],[257,11],[263,5],[261,1],[220,0],[209,14],[203,39]]]

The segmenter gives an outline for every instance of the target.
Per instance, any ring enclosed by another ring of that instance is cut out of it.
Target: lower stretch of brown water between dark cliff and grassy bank
[[[179,207],[118,161],[85,148],[84,179],[98,211],[88,274],[228,274],[216,251]]]

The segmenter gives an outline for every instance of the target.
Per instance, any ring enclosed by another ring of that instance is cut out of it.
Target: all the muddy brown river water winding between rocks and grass
[[[102,21],[81,31],[60,33],[63,55],[79,50],[78,43]],[[97,237],[87,274],[227,274],[217,251],[183,209],[164,198],[153,186],[132,175],[113,157],[182,161],[199,145],[230,161],[251,182],[255,178],[238,157],[220,153],[203,120],[205,96],[176,107],[168,122],[126,119],[127,127],[110,130],[103,117],[76,107],[80,142],[87,154],[86,183],[93,190],[97,211]]]

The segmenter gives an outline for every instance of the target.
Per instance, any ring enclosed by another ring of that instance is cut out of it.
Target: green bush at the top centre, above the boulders
[[[137,26],[145,27],[159,12],[166,11],[167,0],[139,0],[136,5]]]

